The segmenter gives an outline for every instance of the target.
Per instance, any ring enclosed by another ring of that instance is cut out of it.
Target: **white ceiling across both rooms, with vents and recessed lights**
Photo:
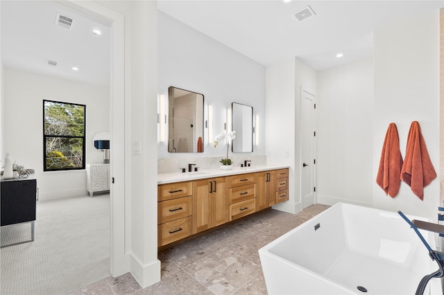
[[[109,85],[108,26],[55,1],[1,0],[0,5],[5,66]],[[315,15],[298,21],[294,14],[307,6]],[[157,7],[265,66],[296,56],[322,71],[371,56],[374,30],[432,10],[438,13],[444,0],[160,0]],[[58,13],[74,19],[71,29],[55,25]],[[92,33],[96,28],[101,35]],[[58,64],[48,66],[46,60]]]

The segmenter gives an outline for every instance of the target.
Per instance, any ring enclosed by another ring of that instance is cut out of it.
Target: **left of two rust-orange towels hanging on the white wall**
[[[388,125],[384,145],[382,146],[381,160],[377,171],[376,183],[390,197],[396,197],[400,190],[402,156],[400,138],[395,123]]]

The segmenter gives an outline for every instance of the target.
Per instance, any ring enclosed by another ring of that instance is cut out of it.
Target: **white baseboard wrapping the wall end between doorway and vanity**
[[[130,255],[130,272],[142,288],[160,282],[160,260],[144,265],[137,257]]]

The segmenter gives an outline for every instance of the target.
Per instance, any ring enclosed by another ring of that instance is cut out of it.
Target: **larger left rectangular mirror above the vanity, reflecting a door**
[[[203,152],[203,94],[169,87],[169,152]]]

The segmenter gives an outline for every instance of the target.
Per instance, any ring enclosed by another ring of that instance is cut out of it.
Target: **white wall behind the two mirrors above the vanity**
[[[202,33],[158,12],[159,80],[158,91],[168,100],[168,87],[202,93],[207,105],[213,105],[213,134],[224,131],[226,110],[231,102],[250,105],[259,120],[265,117],[265,67]],[[168,130],[168,126],[166,127]],[[172,154],[167,141],[159,143],[158,157],[211,157],[225,154],[225,148],[208,144],[204,130],[204,152]],[[253,154],[265,153],[264,124],[259,125],[259,145]],[[230,152],[231,154],[231,152]]]

